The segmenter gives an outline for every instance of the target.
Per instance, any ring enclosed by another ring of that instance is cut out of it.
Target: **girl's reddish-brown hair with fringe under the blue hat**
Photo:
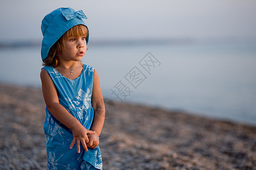
[[[57,67],[59,65],[59,58],[61,57],[61,51],[65,48],[64,41],[69,37],[88,36],[88,29],[85,25],[75,25],[68,29],[67,32],[62,35],[59,40],[55,42],[49,49],[47,58],[43,61],[43,66]]]

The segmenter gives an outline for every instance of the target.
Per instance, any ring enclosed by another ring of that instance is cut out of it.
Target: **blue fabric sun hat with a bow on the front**
[[[79,24],[85,25],[82,19],[87,19],[82,10],[75,11],[69,7],[57,8],[44,16],[41,25],[43,33],[41,57],[43,61],[47,58],[51,46],[55,44],[68,29]],[[87,28],[86,25],[85,27]],[[86,37],[86,44],[88,44],[88,41],[89,34]]]

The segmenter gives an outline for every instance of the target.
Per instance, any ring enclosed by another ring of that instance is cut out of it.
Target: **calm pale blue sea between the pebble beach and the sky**
[[[40,47],[0,58],[1,82],[40,87]],[[91,45],[83,62],[113,100],[256,125],[256,41]]]

